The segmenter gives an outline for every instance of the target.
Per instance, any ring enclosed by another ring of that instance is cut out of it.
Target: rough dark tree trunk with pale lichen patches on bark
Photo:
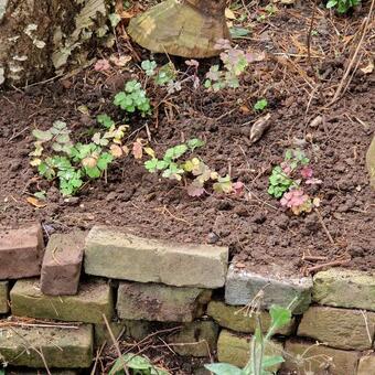
[[[0,87],[84,62],[106,14],[105,0],[0,0]]]

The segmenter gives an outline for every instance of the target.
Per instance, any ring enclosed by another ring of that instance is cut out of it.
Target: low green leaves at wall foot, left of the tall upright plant
[[[154,366],[148,357],[133,353],[127,353],[117,358],[108,375],[125,375],[125,365],[132,375],[170,375],[168,371]]]

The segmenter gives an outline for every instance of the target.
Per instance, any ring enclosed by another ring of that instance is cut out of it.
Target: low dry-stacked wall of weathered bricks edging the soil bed
[[[265,332],[270,306],[293,311],[266,347],[286,360],[275,372],[375,375],[375,274],[264,276],[228,265],[226,247],[104,226],[53,234],[46,246],[42,234],[39,224],[0,231],[0,364],[87,371],[110,343],[106,319],[137,341],[175,323],[168,345],[179,355],[244,366],[256,328],[246,304],[262,290]]]

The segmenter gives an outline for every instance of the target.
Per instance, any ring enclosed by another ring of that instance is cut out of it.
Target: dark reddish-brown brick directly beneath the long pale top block
[[[117,313],[120,319],[191,322],[202,317],[211,290],[159,283],[120,282]]]

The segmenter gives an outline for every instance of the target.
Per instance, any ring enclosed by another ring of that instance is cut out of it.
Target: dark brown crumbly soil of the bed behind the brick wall
[[[130,73],[89,69],[73,78],[0,94],[1,225],[15,227],[40,219],[50,233],[95,224],[125,225],[143,236],[227,245],[239,267],[256,271],[282,267],[301,274],[306,267],[349,258],[346,267],[375,268],[374,194],[364,162],[375,128],[374,73],[357,69],[344,97],[328,106],[353,47],[338,39],[334,28],[342,35],[354,35],[368,9],[346,19],[329,19],[319,11],[318,36],[312,38],[312,63],[321,75],[317,86],[306,47],[311,10],[302,7],[280,8],[266,23],[256,23],[254,38],[242,41],[244,47],[271,55],[251,65],[240,88],[208,94],[185,87],[167,100],[164,92],[150,92],[158,110],[147,120],[130,121],[129,144],[138,137],[148,138],[147,124],[158,152],[191,137],[205,139],[200,157],[223,174],[229,169],[235,181],[246,184],[245,195],[192,199],[182,184],[148,173],[129,157],[109,170],[107,181],[94,181],[77,199],[65,202],[56,186],[29,165],[31,130],[63,119],[84,138],[97,114],[106,110],[119,116],[110,101]],[[374,38],[363,45],[360,67],[367,65],[368,51],[374,49],[371,41]],[[291,54],[290,58],[282,53]],[[251,107],[260,97],[268,99],[271,128],[251,146],[250,126],[243,124],[259,116]],[[89,108],[92,118],[77,110],[81,105]],[[324,121],[311,127],[318,115]],[[315,213],[293,216],[267,194],[272,165],[282,160],[287,148],[297,146],[304,148],[315,176],[323,180],[313,193],[321,199],[319,212],[334,244]],[[47,204],[35,208],[26,197],[41,189],[47,191]],[[326,258],[306,261],[303,254]]]

